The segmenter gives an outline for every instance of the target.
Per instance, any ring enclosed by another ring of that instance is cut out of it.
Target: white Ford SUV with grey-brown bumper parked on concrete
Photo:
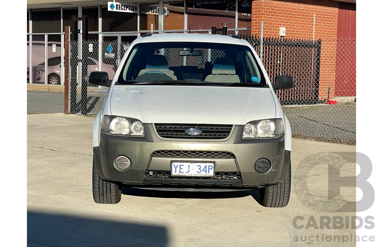
[[[260,191],[266,207],[290,198],[291,129],[254,48],[237,36],[145,34],[124,55],[93,126],[93,198],[121,187]]]

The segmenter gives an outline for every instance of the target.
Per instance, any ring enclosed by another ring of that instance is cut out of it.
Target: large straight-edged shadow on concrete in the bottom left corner
[[[78,215],[27,211],[28,246],[135,246],[169,245],[165,226],[113,221]]]

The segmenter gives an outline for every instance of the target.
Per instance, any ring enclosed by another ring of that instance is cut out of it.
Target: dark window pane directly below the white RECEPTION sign
[[[137,13],[108,11],[108,7],[103,5],[101,18],[102,32],[137,31]]]

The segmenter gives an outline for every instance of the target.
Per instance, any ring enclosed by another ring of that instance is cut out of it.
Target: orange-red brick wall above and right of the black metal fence
[[[314,30],[315,14],[315,30]],[[285,38],[322,39],[319,99],[334,98],[338,2],[331,0],[252,2],[252,34],[260,34],[264,22],[264,36],[279,36],[279,28],[286,28]]]

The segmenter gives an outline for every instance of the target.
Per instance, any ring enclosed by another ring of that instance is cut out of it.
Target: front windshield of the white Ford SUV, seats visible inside
[[[247,46],[159,42],[135,45],[117,83],[263,87],[266,80]]]

